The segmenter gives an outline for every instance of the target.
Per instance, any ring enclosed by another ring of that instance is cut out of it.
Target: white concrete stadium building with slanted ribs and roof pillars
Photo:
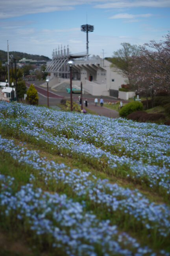
[[[64,51],[61,48],[61,51],[53,52],[52,62],[46,68],[46,72],[50,72],[50,79],[53,78],[51,87],[56,88],[57,83],[61,85],[62,82],[68,82],[70,70],[67,62],[70,59],[74,61],[72,84],[80,87],[82,82],[84,91],[91,95],[114,96],[117,98],[118,89],[122,84],[127,83],[127,78],[115,72],[110,67],[111,62],[106,59],[101,59],[99,56],[87,59],[86,54],[70,54],[68,48],[67,53],[65,48]]]

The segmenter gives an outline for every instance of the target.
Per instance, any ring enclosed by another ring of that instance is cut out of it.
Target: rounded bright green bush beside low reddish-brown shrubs
[[[143,104],[139,101],[129,102],[120,109],[119,115],[120,117],[127,117],[127,115],[137,110],[143,110]]]

